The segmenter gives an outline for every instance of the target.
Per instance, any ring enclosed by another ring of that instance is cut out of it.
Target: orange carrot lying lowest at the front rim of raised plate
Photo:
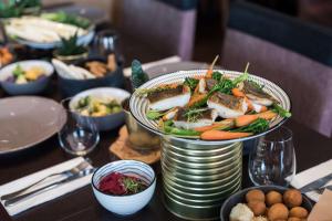
[[[252,133],[207,130],[200,135],[200,138],[205,140],[236,139],[241,137],[248,137],[250,135],[252,135]]]

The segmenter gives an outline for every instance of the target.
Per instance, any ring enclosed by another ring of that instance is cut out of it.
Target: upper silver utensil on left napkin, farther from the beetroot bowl
[[[65,171],[62,171],[62,172],[54,172],[54,173],[52,173],[52,175],[49,175],[49,176],[46,176],[46,177],[44,177],[44,178],[42,178],[42,179],[40,179],[40,180],[38,180],[38,181],[31,183],[30,186],[28,186],[28,187],[25,187],[25,188],[23,188],[23,189],[20,189],[20,190],[18,190],[18,191],[14,191],[14,192],[11,192],[11,193],[8,193],[8,194],[3,194],[3,196],[1,196],[0,199],[1,199],[1,200],[9,200],[9,199],[11,199],[11,198],[13,198],[13,197],[17,197],[17,196],[19,196],[19,194],[22,194],[22,193],[25,192],[27,190],[29,190],[29,189],[31,189],[32,187],[34,187],[34,186],[37,186],[37,185],[39,185],[39,183],[45,181],[46,179],[49,179],[49,178],[51,178],[51,177],[55,177],[55,176],[66,176],[66,177],[73,176],[73,175],[79,173],[81,170],[85,169],[85,168],[89,167],[89,166],[90,166],[90,160],[89,160],[89,159],[87,159],[87,160],[84,160],[84,161],[80,162],[79,165],[76,165],[75,167],[73,167],[73,168],[71,168],[71,169],[69,169],[69,170],[65,170]]]

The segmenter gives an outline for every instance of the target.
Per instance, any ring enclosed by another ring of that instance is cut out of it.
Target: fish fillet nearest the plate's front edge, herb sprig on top
[[[206,109],[200,112],[195,120],[190,122],[188,116],[185,116],[186,110],[184,108],[179,108],[175,118],[174,125],[178,128],[193,129],[196,127],[204,127],[214,124],[216,118],[218,117],[218,113],[215,109]]]

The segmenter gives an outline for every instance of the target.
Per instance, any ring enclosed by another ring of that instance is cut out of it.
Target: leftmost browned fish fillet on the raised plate
[[[155,110],[166,110],[173,107],[184,107],[190,99],[190,88],[178,85],[173,88],[156,91],[147,95],[149,108]]]

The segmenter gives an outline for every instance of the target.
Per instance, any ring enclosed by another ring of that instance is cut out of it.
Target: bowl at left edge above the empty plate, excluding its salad
[[[20,65],[23,70],[28,70],[32,66],[40,66],[44,72],[44,76],[33,82],[25,84],[17,84],[7,82],[8,77],[13,76],[13,70]],[[54,73],[54,67],[51,63],[41,60],[27,60],[9,64],[0,70],[0,83],[3,90],[10,95],[33,95],[43,92]]]

